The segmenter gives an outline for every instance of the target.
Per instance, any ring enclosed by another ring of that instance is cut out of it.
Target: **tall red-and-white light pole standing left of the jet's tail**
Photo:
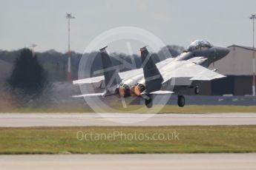
[[[70,19],[75,18],[74,16],[72,16],[71,13],[67,13],[66,18],[68,18],[68,76],[67,79],[68,81],[72,81],[71,78],[71,52],[70,52]]]

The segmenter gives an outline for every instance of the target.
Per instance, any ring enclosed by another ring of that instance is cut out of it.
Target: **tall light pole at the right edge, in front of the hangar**
[[[255,96],[255,18],[256,13],[252,13],[252,95]]]

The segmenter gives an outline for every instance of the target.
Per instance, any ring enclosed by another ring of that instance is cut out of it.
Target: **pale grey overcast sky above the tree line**
[[[38,44],[36,51],[68,48],[70,12],[71,48],[83,52],[97,35],[114,27],[140,27],[165,44],[186,47],[195,39],[229,46],[252,45],[255,0],[0,0],[0,49],[17,50]],[[116,44],[118,52],[127,52]]]

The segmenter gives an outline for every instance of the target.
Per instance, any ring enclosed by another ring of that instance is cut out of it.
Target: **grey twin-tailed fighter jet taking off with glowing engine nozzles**
[[[147,47],[140,49],[142,68],[127,72],[118,72],[106,51],[99,49],[104,75],[73,81],[73,84],[105,84],[102,93],[82,94],[73,97],[101,96],[102,98],[116,95],[120,98],[136,97],[145,100],[145,106],[151,108],[154,95],[177,94],[177,104],[185,106],[184,89],[194,89],[200,93],[202,81],[224,78],[217,69],[207,69],[210,64],[225,57],[229,53],[226,47],[217,47],[205,40],[192,42],[176,58],[167,58],[155,64]]]

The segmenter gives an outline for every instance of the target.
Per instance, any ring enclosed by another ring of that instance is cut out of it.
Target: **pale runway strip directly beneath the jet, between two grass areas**
[[[2,113],[1,127],[255,125],[256,113]]]

